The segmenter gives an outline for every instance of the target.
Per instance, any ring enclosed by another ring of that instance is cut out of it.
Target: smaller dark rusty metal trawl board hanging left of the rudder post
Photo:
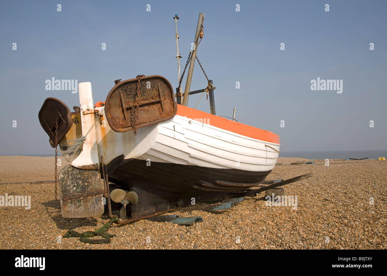
[[[50,145],[53,148],[55,148],[55,126],[57,119],[59,143],[72,125],[70,109],[57,98],[47,98],[39,110],[39,122],[50,137]]]

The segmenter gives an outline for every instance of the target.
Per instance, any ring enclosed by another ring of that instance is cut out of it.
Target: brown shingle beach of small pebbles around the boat
[[[387,161],[279,158],[273,172],[288,179],[313,177],[284,186],[298,206],[266,206],[264,192],[231,210],[205,212],[192,207],[168,214],[202,216],[193,226],[148,220],[113,226],[110,244],[62,239],[67,230],[96,230],[106,217],[62,218],[55,201],[53,157],[0,156],[0,196],[30,195],[31,208],[0,206],[2,249],[386,249]],[[305,161],[309,161],[305,159]],[[336,163],[336,164],[335,164]],[[344,164],[339,164],[344,163]],[[62,167],[67,165],[62,160]],[[277,174],[268,179],[277,179]],[[44,183],[39,181],[46,181]],[[373,198],[373,204],[370,204]],[[202,203],[199,203],[202,204]]]

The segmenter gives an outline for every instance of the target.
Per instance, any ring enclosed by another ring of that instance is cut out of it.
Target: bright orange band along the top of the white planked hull
[[[279,144],[279,136],[272,133],[271,131],[254,128],[253,126],[248,126],[247,124],[241,124],[235,121],[231,121],[216,115],[209,114],[197,109],[190,107],[177,105],[176,115],[187,117],[190,119],[203,119],[207,124],[211,126],[216,126],[224,130],[231,131],[233,133],[238,133],[243,136],[254,138],[261,141],[266,141],[270,143]]]

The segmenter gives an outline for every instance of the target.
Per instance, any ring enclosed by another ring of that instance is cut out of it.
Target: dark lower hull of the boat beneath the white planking
[[[108,167],[109,181],[135,191],[139,202],[127,206],[128,217],[140,218],[216,196],[245,190],[264,181],[271,172],[213,169],[194,165],[114,160]],[[111,187],[114,188],[115,185]]]

